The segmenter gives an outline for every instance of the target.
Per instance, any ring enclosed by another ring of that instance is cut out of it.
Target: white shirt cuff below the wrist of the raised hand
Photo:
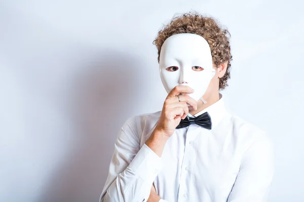
[[[153,182],[163,169],[161,158],[146,144],[143,144],[128,166],[144,181]]]

